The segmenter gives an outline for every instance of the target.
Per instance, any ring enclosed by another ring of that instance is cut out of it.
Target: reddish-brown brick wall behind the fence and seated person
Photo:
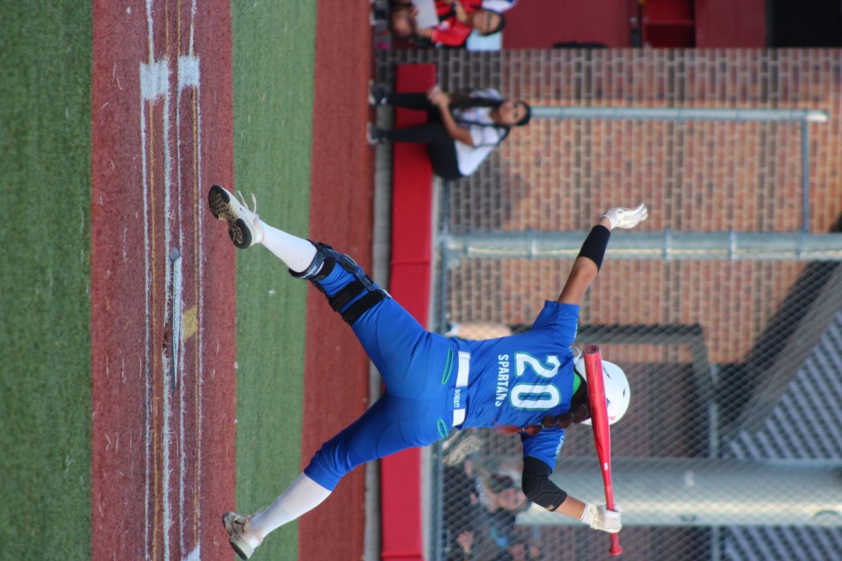
[[[438,64],[445,89],[496,87],[533,105],[811,108],[809,224],[842,214],[840,50],[461,50],[381,52]],[[799,124],[536,119],[450,188],[453,231],[587,230],[616,204],[650,205],[648,230],[793,231],[802,226]],[[571,262],[466,262],[450,272],[451,320],[527,323],[554,299]],[[798,262],[606,263],[583,323],[699,323],[711,361],[737,363],[794,283]],[[658,360],[651,355],[637,360]],[[638,355],[640,353],[638,352]]]

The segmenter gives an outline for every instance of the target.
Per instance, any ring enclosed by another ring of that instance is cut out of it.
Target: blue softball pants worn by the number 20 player
[[[318,284],[333,296],[354,279],[337,264]],[[456,384],[453,341],[426,331],[392,298],[366,310],[352,329],[386,391],[359,419],[322,444],[305,468],[308,477],[328,490],[360,463],[444,438],[453,422],[448,399]]]

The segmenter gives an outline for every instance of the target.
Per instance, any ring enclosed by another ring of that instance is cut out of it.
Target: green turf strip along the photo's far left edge
[[[0,17],[0,558],[91,555],[91,25]]]

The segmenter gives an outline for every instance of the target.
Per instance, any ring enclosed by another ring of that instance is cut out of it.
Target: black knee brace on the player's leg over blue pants
[[[313,286],[318,288],[328,298],[328,304],[335,312],[342,314],[342,319],[348,325],[354,325],[354,321],[360,318],[365,311],[382,299],[389,298],[389,294],[382,288],[376,286],[362,268],[357,265],[349,255],[339,253],[333,247],[321,242],[312,242],[316,246],[316,257],[310,267],[302,273],[296,273],[290,269],[290,275],[295,278],[309,280]],[[328,278],[337,264],[354,275],[354,280],[339,288],[338,291],[329,295],[319,281]],[[361,298],[360,294],[365,293]]]

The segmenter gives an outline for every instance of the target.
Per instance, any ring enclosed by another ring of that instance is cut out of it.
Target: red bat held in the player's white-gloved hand
[[[611,433],[608,428],[608,408],[605,404],[605,380],[602,377],[602,354],[598,345],[584,347],[584,369],[588,375],[590,422],[594,427],[596,455],[600,458],[602,482],[605,484],[605,507],[614,510],[614,488],[611,486]],[[623,548],[620,536],[610,534],[611,555],[620,555]]]

